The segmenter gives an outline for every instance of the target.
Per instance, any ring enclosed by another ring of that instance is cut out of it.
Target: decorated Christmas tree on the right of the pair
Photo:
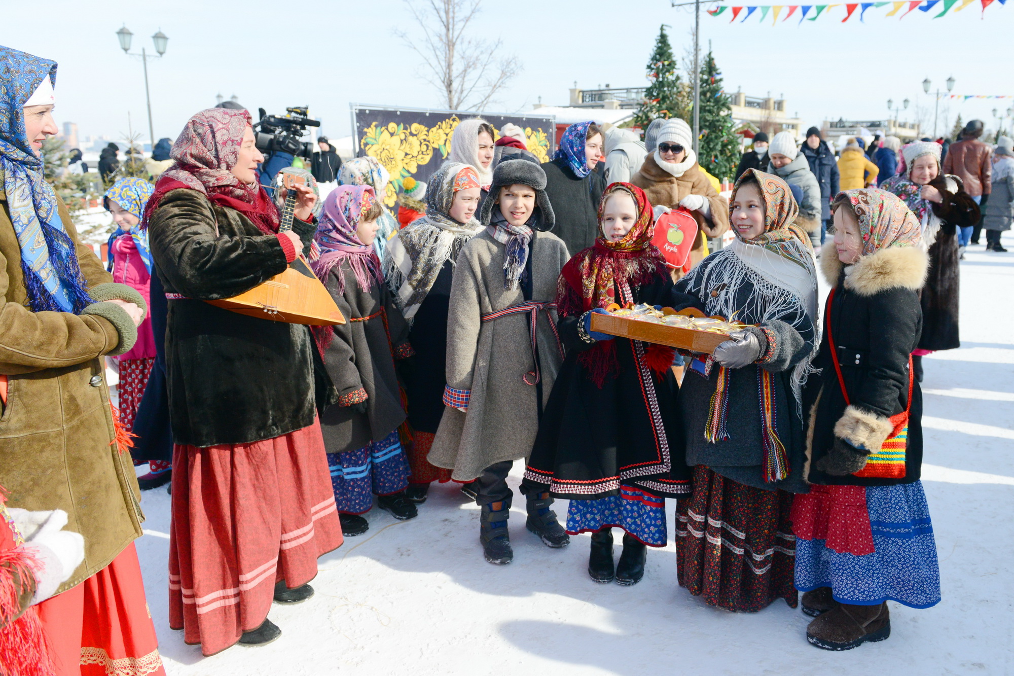
[[[722,89],[722,71],[711,52],[701,64],[701,140],[698,163],[718,180],[730,179],[739,161],[731,97]]]

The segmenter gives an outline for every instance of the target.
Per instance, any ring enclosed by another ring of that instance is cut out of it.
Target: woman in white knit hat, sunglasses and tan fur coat
[[[631,183],[644,190],[653,206],[665,207],[658,211],[682,207],[691,212],[705,235],[721,236],[729,229],[729,203],[698,165],[690,126],[676,118],[666,120],[658,131],[657,142]],[[697,265],[703,258],[704,242],[698,238],[691,250],[691,262]]]

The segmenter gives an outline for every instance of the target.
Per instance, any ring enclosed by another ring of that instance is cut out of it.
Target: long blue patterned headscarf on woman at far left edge
[[[24,128],[24,104],[44,77],[56,84],[55,61],[0,47],[0,175],[21,248],[29,308],[77,314],[92,299],[57,211],[56,193],[43,178],[43,160]]]

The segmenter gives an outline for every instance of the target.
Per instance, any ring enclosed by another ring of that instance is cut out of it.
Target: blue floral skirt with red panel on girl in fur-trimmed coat
[[[838,509],[834,491],[814,488],[808,495],[796,495],[792,508],[793,523],[799,524],[796,586],[800,591],[830,587],[836,600],[857,606],[897,601],[911,608],[929,608],[940,603],[937,544],[922,481],[866,487],[873,552],[863,555],[828,546],[836,522],[849,515]],[[811,533],[826,537],[804,537]]]

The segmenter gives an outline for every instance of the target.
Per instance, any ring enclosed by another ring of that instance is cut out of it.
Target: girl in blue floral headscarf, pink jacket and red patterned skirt
[[[151,252],[148,247],[148,230],[142,229],[140,223],[144,220],[144,206],[153,192],[155,187],[144,179],[127,177],[117,179],[102,198],[105,209],[113,213],[113,220],[117,224],[108,242],[108,270],[113,273],[113,281],[135,289],[148,303],[151,302]],[[120,421],[127,429],[134,426],[141,397],[155,363],[155,354],[151,317],[146,317],[137,328],[134,347],[118,357]]]

